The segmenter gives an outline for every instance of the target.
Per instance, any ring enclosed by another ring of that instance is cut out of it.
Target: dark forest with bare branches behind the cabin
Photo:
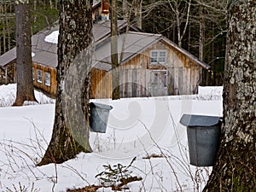
[[[96,0],[95,0],[96,1]],[[100,0],[98,0],[100,1]],[[59,0],[32,0],[32,34],[58,20]],[[222,85],[226,48],[225,1],[123,0],[118,20],[143,32],[158,33],[211,66],[202,73],[201,85]],[[0,1],[0,55],[15,47],[15,1]]]

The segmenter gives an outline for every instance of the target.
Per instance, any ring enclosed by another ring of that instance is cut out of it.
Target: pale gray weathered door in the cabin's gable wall
[[[149,91],[151,96],[167,96],[167,71],[150,71]]]

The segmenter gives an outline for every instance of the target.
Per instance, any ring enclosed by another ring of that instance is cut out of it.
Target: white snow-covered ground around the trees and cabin
[[[189,165],[186,128],[179,120],[183,113],[222,116],[221,94],[222,87],[200,87],[197,96],[94,100],[113,106],[107,132],[90,132],[94,152],[61,165],[37,167],[51,137],[54,101],[37,92],[38,102],[47,104],[9,107],[15,100],[15,84],[2,85],[0,106],[6,107],[0,108],[0,191],[99,185],[95,176],[105,171],[104,165],[128,166],[134,157],[131,176],[143,180],[128,183],[130,190],[124,191],[201,191],[211,167]],[[144,159],[152,154],[162,157]]]

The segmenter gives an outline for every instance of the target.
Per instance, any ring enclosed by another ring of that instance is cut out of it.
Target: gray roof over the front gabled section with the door
[[[191,55],[185,49],[180,48],[177,44],[174,44],[167,38],[164,38],[160,34],[152,34],[145,32],[128,32],[118,36],[118,58],[121,63],[131,60],[134,56],[143,52],[143,50],[148,49],[151,45],[156,42],[164,41],[173,49],[181,52],[183,55],[189,57],[190,60],[199,64],[201,67],[209,68],[206,63],[200,61],[194,55]],[[122,58],[121,58],[122,56]],[[105,44],[102,44],[100,47],[96,47],[95,54],[93,56],[92,67],[99,68],[105,71],[111,70],[111,41],[108,38],[105,41]]]

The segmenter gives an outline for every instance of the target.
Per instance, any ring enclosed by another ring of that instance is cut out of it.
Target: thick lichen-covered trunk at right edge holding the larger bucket
[[[231,1],[224,76],[224,137],[203,191],[256,191],[256,2]]]

